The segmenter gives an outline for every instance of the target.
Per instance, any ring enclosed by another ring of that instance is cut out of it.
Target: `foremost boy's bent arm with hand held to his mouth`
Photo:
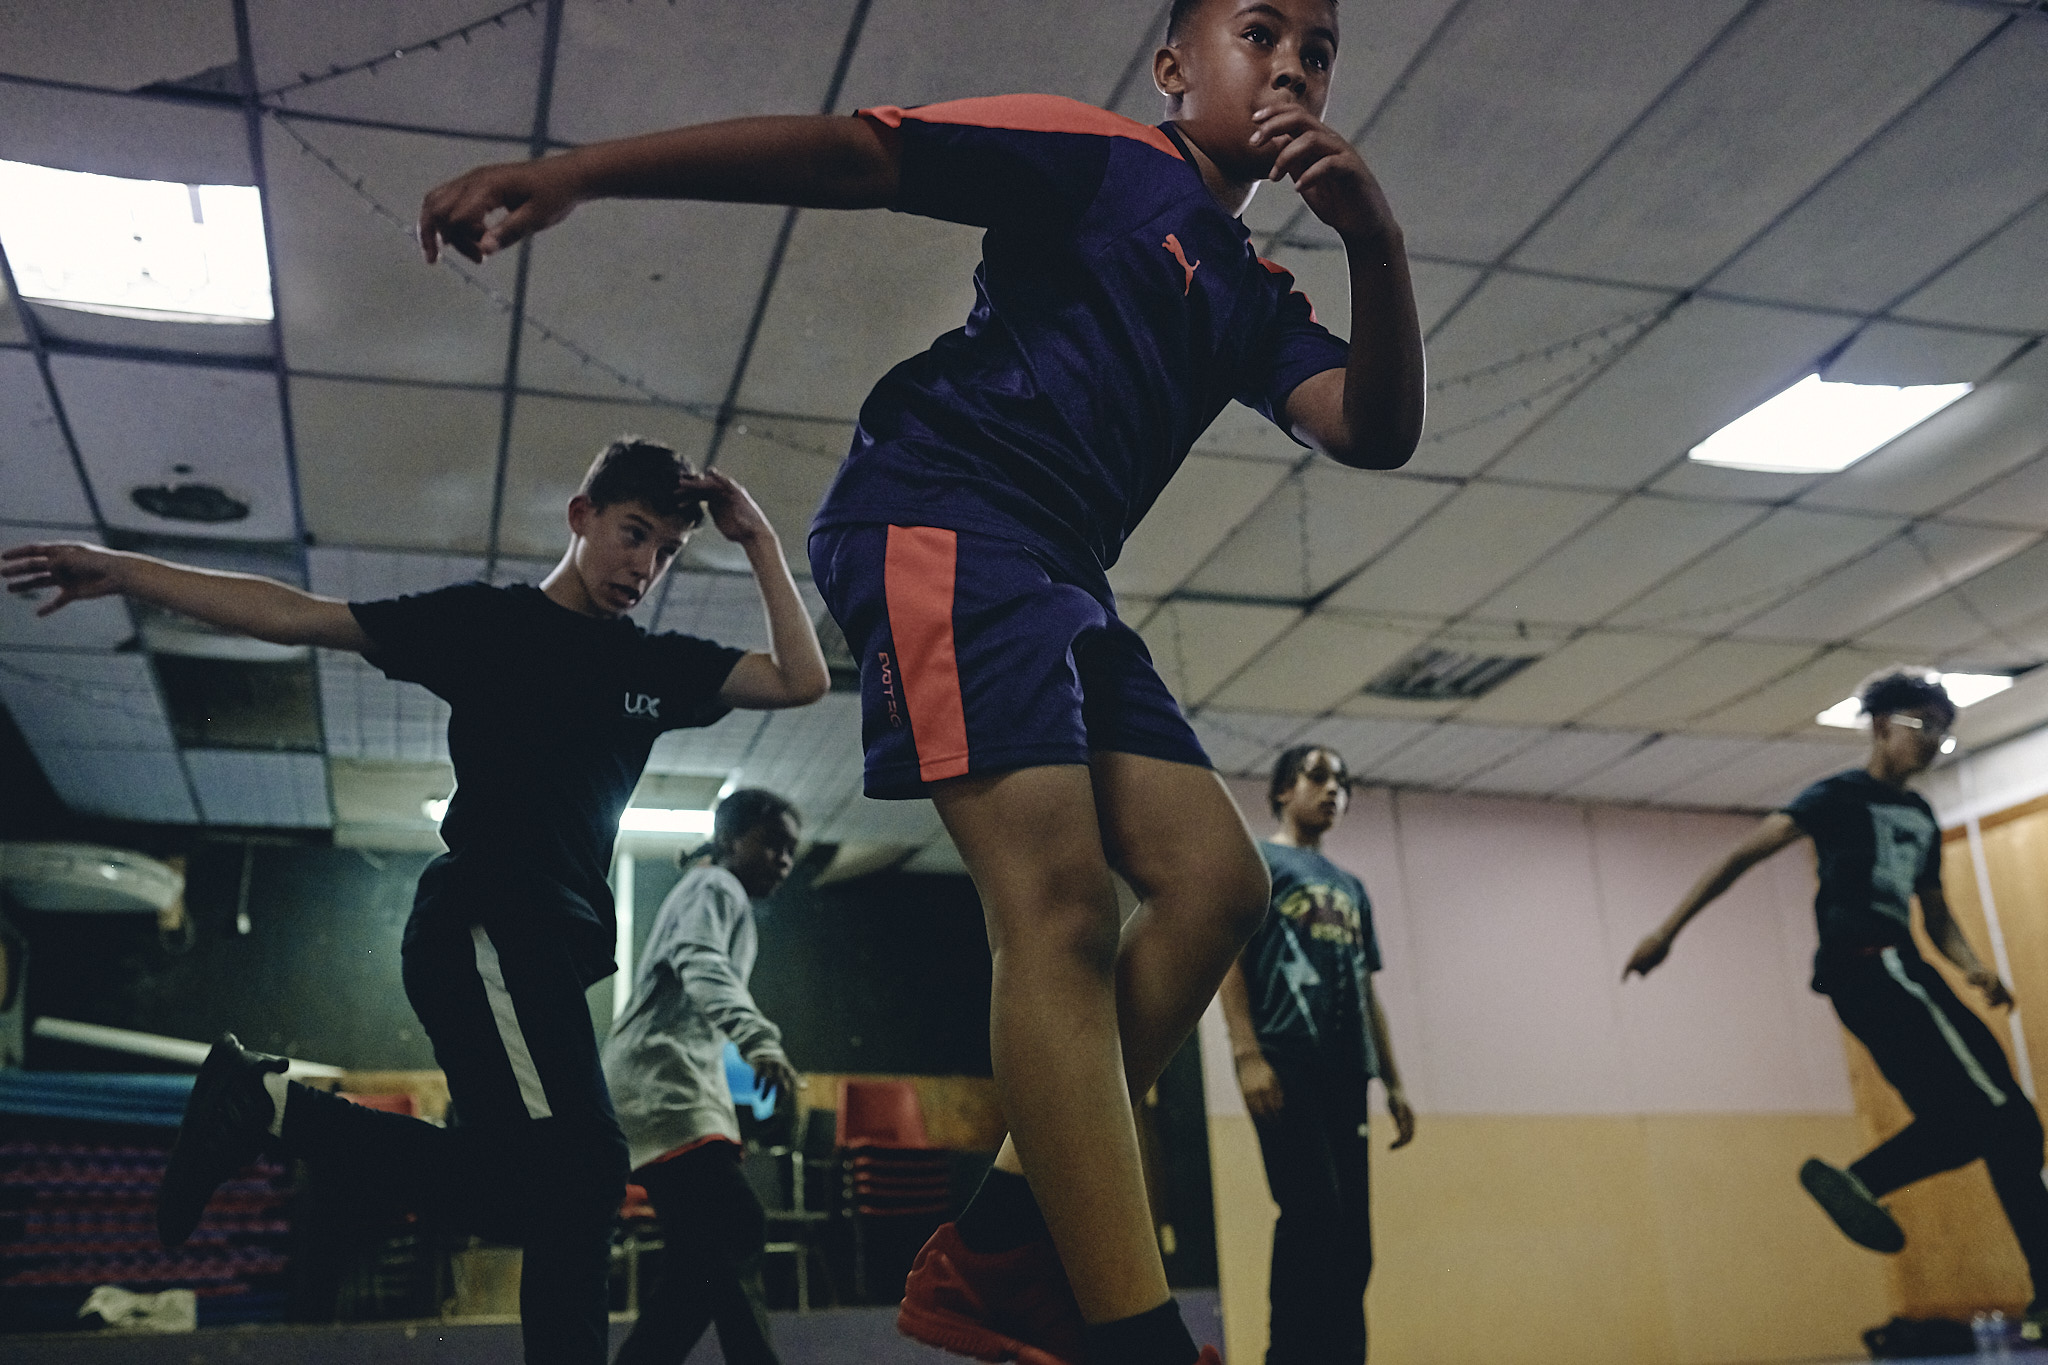
[[[1294,178],[1309,211],[1337,229],[1352,274],[1352,352],[1286,401],[1294,436],[1352,469],[1401,469],[1421,440],[1423,354],[1407,246],[1380,182],[1329,125],[1280,104],[1257,139],[1280,145],[1272,178]]]

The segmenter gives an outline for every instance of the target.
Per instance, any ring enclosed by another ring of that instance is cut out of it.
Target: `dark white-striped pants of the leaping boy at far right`
[[[1982,1158],[2034,1291],[2048,1291],[2042,1124],[1991,1029],[1911,948],[1835,956],[1821,984],[1913,1111],[1911,1124],[1849,1171],[1882,1197]]]

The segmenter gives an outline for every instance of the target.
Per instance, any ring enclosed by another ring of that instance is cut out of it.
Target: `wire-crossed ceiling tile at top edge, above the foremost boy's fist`
[[[428,47],[428,39],[473,23],[479,16],[475,0],[319,6],[250,0],[248,8],[256,86],[266,92],[283,86],[272,98],[287,108],[516,137],[532,131],[545,6],[512,10],[469,41],[455,39],[438,49]],[[406,55],[375,72],[293,88],[303,74],[397,51]],[[510,160],[502,147],[477,151],[479,162]]]

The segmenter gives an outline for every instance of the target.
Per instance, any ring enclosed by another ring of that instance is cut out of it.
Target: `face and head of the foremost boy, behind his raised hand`
[[[1253,145],[1251,115],[1298,104],[1317,119],[1337,61],[1337,8],[1329,0],[1208,0],[1171,47],[1153,57],[1153,80],[1174,100],[1174,121],[1233,180],[1257,180],[1278,149]]]

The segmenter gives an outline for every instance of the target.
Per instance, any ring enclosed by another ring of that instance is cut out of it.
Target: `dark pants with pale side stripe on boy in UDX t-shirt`
[[[418,927],[406,943],[406,997],[449,1076],[457,1124],[295,1085],[283,1140],[365,1199],[522,1246],[526,1363],[604,1365],[627,1142],[586,982],[557,937],[522,925]]]

